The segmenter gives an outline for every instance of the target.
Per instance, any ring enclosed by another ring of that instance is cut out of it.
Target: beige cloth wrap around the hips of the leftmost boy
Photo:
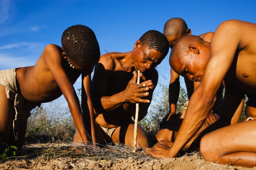
[[[30,111],[40,104],[28,102],[21,94],[18,94],[18,81],[16,79],[17,68],[0,71],[0,85],[5,86],[6,96],[14,100],[15,118],[13,120],[14,139],[17,141],[20,133],[20,125],[30,117]]]

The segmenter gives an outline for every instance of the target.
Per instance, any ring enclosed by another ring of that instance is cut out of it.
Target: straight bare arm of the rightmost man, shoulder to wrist
[[[212,57],[206,66],[202,82],[190,98],[186,115],[178,131],[174,145],[168,152],[169,157],[176,156],[194,136],[214,106],[218,88],[233,62],[234,55],[240,43],[238,30],[235,29],[234,25],[230,29],[230,24],[232,25],[233,21],[222,23],[214,33],[211,43]],[[220,65],[219,63],[222,64]]]

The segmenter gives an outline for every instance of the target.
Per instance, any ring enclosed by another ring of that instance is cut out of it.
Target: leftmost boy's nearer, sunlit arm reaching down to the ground
[[[80,133],[84,143],[87,143],[87,133],[85,131],[85,125],[82,117],[82,110],[79,104],[76,91],[71,84],[68,76],[62,68],[62,55],[56,50],[54,45],[49,45],[44,50],[44,60],[52,73],[56,83],[58,84],[62,94],[64,95],[66,101],[68,102],[68,107],[74,119],[74,123]]]

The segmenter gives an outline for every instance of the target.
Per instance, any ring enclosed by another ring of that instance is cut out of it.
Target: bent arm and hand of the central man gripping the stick
[[[108,68],[109,70],[107,70]],[[106,64],[103,66],[102,63],[95,65],[92,90],[94,94],[94,108],[98,114],[111,111],[127,102],[133,104],[150,103],[150,100],[142,98],[149,95],[148,90],[150,90],[152,82],[151,80],[148,80],[140,84],[136,84],[136,71],[134,71],[134,76],[130,82],[128,82],[125,90],[112,96],[107,96],[108,72],[113,72],[112,66]]]

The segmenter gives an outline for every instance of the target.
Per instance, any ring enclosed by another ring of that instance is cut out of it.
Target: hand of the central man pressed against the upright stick
[[[124,90],[124,98],[131,103],[150,103],[150,100],[142,98],[149,95],[148,91],[153,88],[153,83],[151,80],[147,80],[136,84],[137,76],[137,72],[134,71],[132,79]]]

